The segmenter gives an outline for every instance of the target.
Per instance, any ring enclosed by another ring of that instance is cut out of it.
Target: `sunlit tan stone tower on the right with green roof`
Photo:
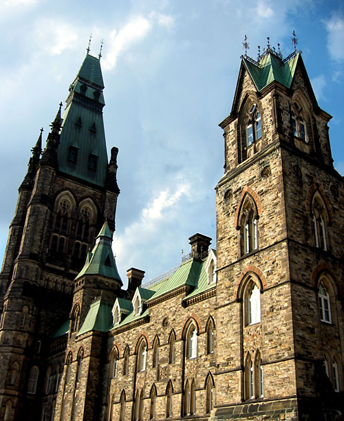
[[[242,57],[220,123],[217,420],[338,419],[344,186],[330,118],[299,52],[283,60],[268,46],[258,61]]]

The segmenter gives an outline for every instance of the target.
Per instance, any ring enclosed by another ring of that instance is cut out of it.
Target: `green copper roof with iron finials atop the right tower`
[[[261,58],[259,63],[254,63],[245,56],[242,60],[257,90],[261,91],[261,89],[269,85],[273,80],[290,88],[299,56],[300,53],[297,53],[290,60],[283,62],[275,54],[269,53]]]

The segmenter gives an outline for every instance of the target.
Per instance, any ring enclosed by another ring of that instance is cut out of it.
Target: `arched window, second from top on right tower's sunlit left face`
[[[246,255],[258,248],[258,219],[257,205],[252,196],[246,193],[239,210],[240,253]]]

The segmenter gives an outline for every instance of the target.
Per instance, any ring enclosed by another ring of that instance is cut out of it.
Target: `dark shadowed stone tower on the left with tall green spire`
[[[1,420],[40,418],[49,336],[69,319],[74,278],[105,219],[115,228],[118,149],[108,164],[103,89],[100,61],[87,52],[19,187],[0,275]]]

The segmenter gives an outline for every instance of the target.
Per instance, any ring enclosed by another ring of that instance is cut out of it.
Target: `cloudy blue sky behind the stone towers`
[[[92,33],[105,81],[107,146],[116,145],[120,196],[114,252],[122,280],[180,264],[188,238],[215,246],[222,130],[248,55],[266,37],[283,56],[299,39],[319,105],[330,113],[334,166],[344,174],[344,4],[331,0],[0,0],[0,253],[30,149],[67,98]]]

